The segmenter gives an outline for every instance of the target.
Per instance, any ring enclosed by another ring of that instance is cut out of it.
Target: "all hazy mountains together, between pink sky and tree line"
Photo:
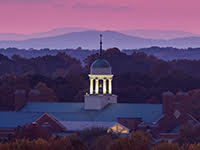
[[[65,49],[82,47],[84,49],[98,49],[99,34],[103,34],[105,49],[110,47],[135,49],[151,46],[176,48],[200,47],[200,36],[182,31],[131,30],[121,32],[87,30],[85,28],[60,28],[49,32],[35,33],[31,35],[7,34],[7,39],[11,40],[1,40],[0,48]],[[134,34],[137,34],[137,36],[133,36]],[[4,36],[5,35],[6,34],[4,34]],[[156,36],[160,36],[161,38],[164,35],[166,35],[165,38],[170,36],[180,36],[181,38],[169,40],[155,39]],[[140,36],[150,36],[151,38],[141,38]],[[0,37],[2,39],[3,35],[0,34]],[[11,37],[13,39],[17,38],[18,41],[13,40]]]

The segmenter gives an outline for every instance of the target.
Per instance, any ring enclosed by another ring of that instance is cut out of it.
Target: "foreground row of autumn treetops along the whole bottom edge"
[[[1,150],[199,150],[200,143],[178,140],[155,141],[149,133],[132,132],[130,135],[114,135],[102,129],[86,129],[64,137],[20,138],[0,142]],[[191,139],[194,138],[191,137]]]

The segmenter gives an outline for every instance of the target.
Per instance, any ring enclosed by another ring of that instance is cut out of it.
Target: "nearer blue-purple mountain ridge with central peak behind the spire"
[[[151,46],[177,48],[200,47],[200,37],[154,40],[129,36],[115,31],[89,30],[83,32],[72,32],[53,37],[34,38],[23,41],[0,41],[0,48],[17,47],[26,49],[65,49],[82,47],[85,49],[98,49],[99,34],[103,34],[103,46],[105,49],[110,47],[118,47],[120,49],[134,49]]]

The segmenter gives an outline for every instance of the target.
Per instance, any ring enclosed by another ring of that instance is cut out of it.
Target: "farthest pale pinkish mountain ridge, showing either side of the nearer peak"
[[[93,29],[82,28],[82,27],[64,27],[56,28],[46,32],[38,32],[33,34],[17,34],[17,33],[0,33],[0,41],[5,40],[28,40],[32,38],[44,38],[44,37],[53,37],[63,34],[68,34],[72,32],[83,32]],[[138,29],[138,30],[119,30],[120,32],[129,36],[135,36],[140,38],[147,39],[160,39],[160,40],[169,40],[174,38],[184,38],[184,37],[196,37],[200,34],[194,34],[190,32],[184,32],[181,30],[150,30],[150,29]]]

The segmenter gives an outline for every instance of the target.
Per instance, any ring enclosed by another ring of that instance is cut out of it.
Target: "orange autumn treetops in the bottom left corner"
[[[52,137],[48,140],[42,138],[16,140],[0,144],[0,150],[88,150],[88,147],[79,137],[68,136],[62,138]]]

